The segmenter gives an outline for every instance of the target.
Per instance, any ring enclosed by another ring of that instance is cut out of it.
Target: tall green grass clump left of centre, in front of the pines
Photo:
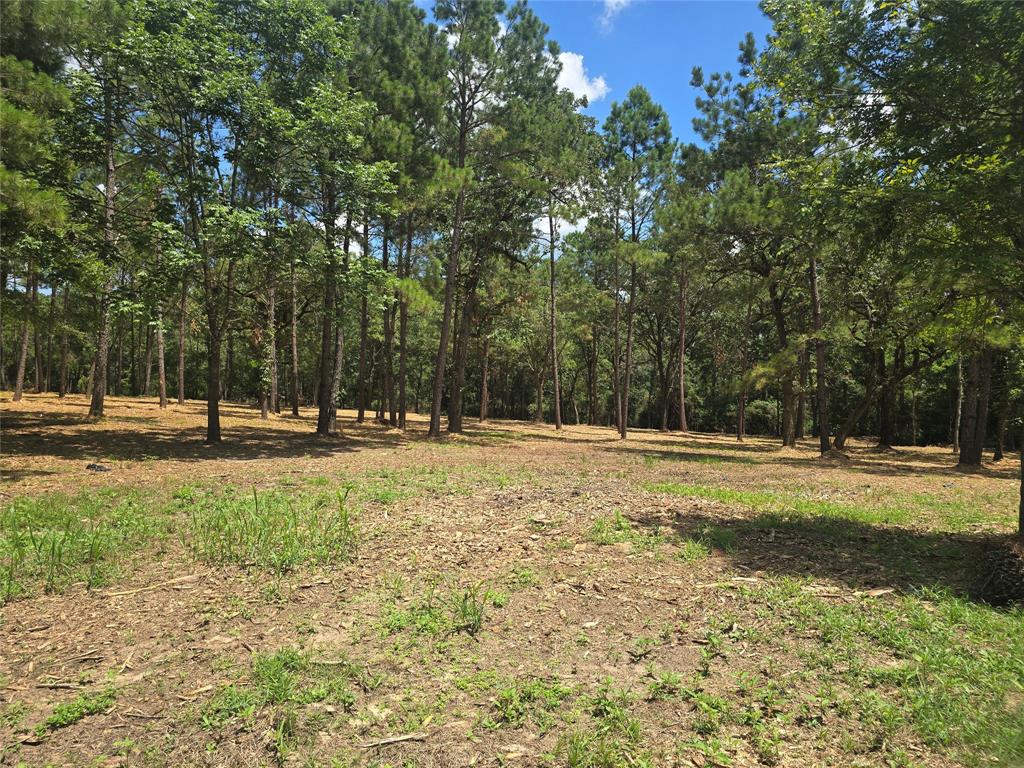
[[[187,511],[182,541],[198,560],[278,573],[347,562],[358,542],[347,496],[186,489],[179,494]]]

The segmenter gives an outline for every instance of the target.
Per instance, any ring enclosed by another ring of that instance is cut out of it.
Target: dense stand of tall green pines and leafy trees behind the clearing
[[[1024,6],[763,5],[694,145],[525,3],[7,0],[0,388],[1019,450]]]

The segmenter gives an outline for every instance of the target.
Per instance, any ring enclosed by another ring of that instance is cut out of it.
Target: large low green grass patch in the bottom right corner
[[[967,765],[1024,761],[1024,609],[948,592],[837,605],[782,583],[758,593],[774,621],[818,635],[814,674],[866,693],[853,717],[877,744],[912,728]],[[879,666],[867,659],[889,658]]]

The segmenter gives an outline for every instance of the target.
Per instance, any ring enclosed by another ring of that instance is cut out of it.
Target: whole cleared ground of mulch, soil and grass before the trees
[[[1012,462],[6,400],[0,764],[1024,764]]]

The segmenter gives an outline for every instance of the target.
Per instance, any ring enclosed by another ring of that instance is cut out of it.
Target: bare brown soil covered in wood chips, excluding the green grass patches
[[[1011,529],[1017,483],[1009,462],[957,472],[945,447],[879,453],[855,441],[846,457],[822,460],[811,440],[782,452],[761,438],[634,430],[622,441],[603,427],[556,432],[504,421],[431,441],[419,417],[403,433],[356,425],[349,413],[340,434],[318,438],[310,410],[261,421],[231,403],[222,406],[223,443],[207,446],[202,402],[162,412],[153,400],[109,397],[99,422],[87,410],[81,396],[4,399],[4,503],[109,487],[169,499],[184,484],[299,493],[318,478],[332,486],[367,476],[440,479],[360,504],[364,536],[344,566],[284,577],[212,567],[169,536],[128,558],[101,589],[77,585],[4,606],[3,705],[24,712],[0,720],[0,764],[567,765],[566,734],[595,727],[589,701],[602,685],[628,692],[642,727],[622,765],[893,764],[893,744],[879,744],[871,726],[843,709],[862,694],[849,680],[831,680],[831,705],[801,715],[821,687],[807,654],[827,640],[780,624],[761,590],[785,585],[850,606],[923,587],[966,592],[978,553]],[[741,496],[677,495],[659,483],[912,514],[896,524],[851,519],[841,535],[814,521],[765,527],[752,524],[759,512]],[[631,532],[602,543],[595,524],[615,519]],[[710,529],[727,531],[729,546],[678,556],[679,541]],[[912,568],[885,557],[905,544],[920,553]],[[415,605],[434,583],[456,591],[483,584],[505,599],[487,604],[475,635],[389,633],[388,612]],[[724,640],[721,655],[708,653],[709,633]],[[347,659],[375,682],[360,687],[353,678],[347,710],[298,708],[284,728],[286,749],[281,707],[204,724],[218,691],[247,683],[254,656],[286,647]],[[895,663],[865,653],[865,664]],[[705,693],[734,709],[753,695],[743,681],[772,687],[785,715],[773,721],[774,753],[759,749],[749,724],[728,719],[715,733],[725,757],[688,745],[713,739],[692,698],[649,694],[660,671],[686,685],[697,675]],[[502,688],[532,678],[572,691],[554,725],[530,717],[495,724]],[[34,730],[60,702],[104,686],[117,690],[105,711]],[[887,683],[880,690],[896,695]],[[911,728],[896,734],[913,765],[961,764]]]

